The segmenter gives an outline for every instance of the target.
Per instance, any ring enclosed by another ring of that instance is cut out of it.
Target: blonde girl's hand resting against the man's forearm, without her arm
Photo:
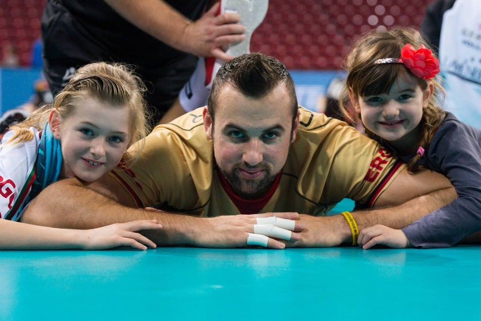
[[[80,230],[80,246],[84,250],[105,250],[120,246],[139,250],[147,250],[148,247],[155,249],[155,243],[137,231],[156,230],[161,227],[156,220],[141,220]]]

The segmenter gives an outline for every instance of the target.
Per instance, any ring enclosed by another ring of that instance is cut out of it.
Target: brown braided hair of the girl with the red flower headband
[[[377,59],[400,58],[401,48],[406,44],[411,44],[416,49],[420,45],[430,49],[421,33],[417,29],[410,27],[398,27],[383,31],[371,30],[354,44],[344,62],[344,68],[348,74],[339,99],[340,110],[349,122],[356,122],[352,117],[352,106],[349,105],[349,90],[352,90],[356,97],[388,93],[398,76],[407,77],[409,74],[412,75],[411,71],[403,63],[374,64],[374,61]],[[429,82],[432,82],[434,86],[434,93],[431,95],[431,99],[427,105],[423,106],[421,136],[417,142],[418,146],[422,146],[427,150],[434,133],[438,130],[446,116],[446,112],[439,107],[439,99],[444,99],[445,91],[435,79],[427,81],[417,77],[417,82],[422,90],[428,88]],[[361,115],[358,116],[361,119]],[[366,129],[366,135],[371,138],[378,138],[377,135],[368,129]],[[416,164],[420,156],[416,154],[407,164],[411,172],[416,172],[421,168],[421,166]]]

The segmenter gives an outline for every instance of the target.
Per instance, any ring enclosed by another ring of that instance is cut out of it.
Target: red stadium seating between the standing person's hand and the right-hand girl
[[[373,28],[419,26],[432,0],[270,0],[251,49],[289,69],[339,69],[352,40]]]

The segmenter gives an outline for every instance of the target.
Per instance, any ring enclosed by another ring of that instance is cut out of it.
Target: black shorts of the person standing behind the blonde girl
[[[66,85],[75,70],[85,64],[95,61],[126,63],[135,68],[147,87],[152,124],[156,124],[194,72],[197,57],[178,52],[153,38],[149,40],[152,50],[136,51],[132,46],[124,50],[126,52],[111,52],[100,40],[108,35],[100,35],[100,32],[94,35],[82,28],[65,8],[55,3],[46,7],[46,11],[42,17],[43,69],[54,95]],[[124,39],[126,37],[133,41],[131,36],[123,35]],[[139,42],[147,45],[145,38]],[[126,58],[132,56],[136,57],[133,61]]]

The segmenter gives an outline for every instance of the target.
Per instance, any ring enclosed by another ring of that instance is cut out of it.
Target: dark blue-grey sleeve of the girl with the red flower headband
[[[480,130],[456,119],[445,121],[434,135],[429,167],[449,178],[458,198],[403,229],[414,247],[450,247],[481,230],[480,140]]]

